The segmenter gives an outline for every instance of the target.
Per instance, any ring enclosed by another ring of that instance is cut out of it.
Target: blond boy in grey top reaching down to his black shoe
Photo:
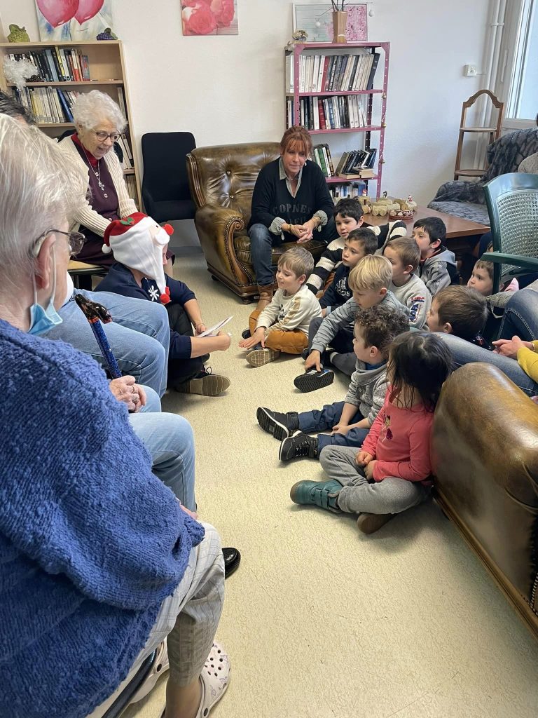
[[[334,373],[322,368],[324,360],[331,363],[348,376],[355,370],[356,357],[353,351],[353,330],[357,309],[368,309],[375,304],[388,307],[392,311],[409,315],[409,309],[398,302],[388,286],[392,281],[390,261],[379,254],[363,257],[349,274],[351,299],[328,314],[319,325],[315,336],[309,335],[309,351],[305,363],[305,373],[295,378],[293,383],[301,391],[328,386],[334,380]],[[330,355],[326,352],[331,346]]]

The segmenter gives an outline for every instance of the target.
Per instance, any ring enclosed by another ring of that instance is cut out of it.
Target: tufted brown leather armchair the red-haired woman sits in
[[[194,225],[207,271],[245,304],[258,294],[247,235],[254,185],[260,169],[278,155],[278,142],[197,147],[187,154],[189,185],[197,206]],[[291,246],[273,248],[273,265]],[[325,244],[313,240],[303,247],[317,261]]]

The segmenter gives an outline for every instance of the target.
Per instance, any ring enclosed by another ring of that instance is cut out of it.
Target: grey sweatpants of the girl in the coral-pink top
[[[422,503],[430,489],[420,482],[387,476],[372,483],[357,466],[357,448],[327,446],[319,454],[319,462],[329,478],[341,483],[338,505],[347,513],[400,513]]]

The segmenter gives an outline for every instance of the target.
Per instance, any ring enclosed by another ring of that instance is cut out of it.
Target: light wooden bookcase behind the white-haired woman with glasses
[[[35,65],[35,75],[22,90],[6,81],[6,55],[12,60],[28,60]],[[130,175],[131,196],[141,208],[138,156],[130,130],[131,106],[121,40],[2,42],[0,89],[13,94],[32,112],[37,126],[52,137],[73,127],[71,108],[78,94],[98,89],[110,95],[128,120],[118,144],[123,151],[124,172]]]

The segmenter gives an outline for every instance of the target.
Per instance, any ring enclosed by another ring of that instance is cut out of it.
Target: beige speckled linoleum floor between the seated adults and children
[[[209,363],[232,380],[227,395],[164,397],[194,427],[199,514],[242,553],[217,633],[232,681],[212,715],[536,718],[538,643],[436,505],[364,536],[351,517],[291,503],[293,482],[321,470],[280,464],[256,408],[340,400],[344,379],[301,394],[300,359],[250,368],[237,342],[253,305],[212,281],[201,254],[179,257],[176,276],[207,322],[234,314],[232,347]],[[165,681],[126,716],[159,718]]]

